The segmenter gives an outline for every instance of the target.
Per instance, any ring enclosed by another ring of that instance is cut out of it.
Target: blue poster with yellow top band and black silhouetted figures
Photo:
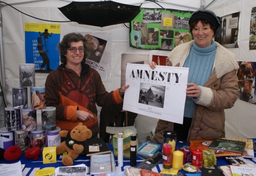
[[[59,24],[25,23],[26,63],[34,63],[36,73],[55,70],[59,65],[59,40]]]

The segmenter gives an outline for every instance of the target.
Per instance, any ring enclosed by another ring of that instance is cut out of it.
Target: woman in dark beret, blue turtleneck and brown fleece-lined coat
[[[177,139],[211,140],[225,137],[224,109],[238,98],[236,55],[214,37],[222,32],[214,12],[198,10],[188,21],[194,40],[177,46],[167,65],[189,68],[183,124],[159,120],[153,142],[162,143],[163,131],[174,130]],[[150,67],[156,67],[150,62]]]

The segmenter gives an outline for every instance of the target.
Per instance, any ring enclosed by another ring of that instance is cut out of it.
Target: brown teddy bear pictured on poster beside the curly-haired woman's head
[[[90,55],[100,57],[104,47],[100,45],[99,40],[90,34],[86,34],[84,38],[86,38],[86,48],[90,50]]]

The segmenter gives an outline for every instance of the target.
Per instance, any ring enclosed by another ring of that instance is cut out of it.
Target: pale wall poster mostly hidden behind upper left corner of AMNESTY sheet
[[[149,54],[125,54],[121,55],[121,85],[125,84],[125,72],[127,63],[149,64]]]

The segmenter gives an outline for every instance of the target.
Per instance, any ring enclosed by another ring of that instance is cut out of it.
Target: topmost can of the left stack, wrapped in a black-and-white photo
[[[19,86],[20,87],[35,86],[35,64],[34,63],[19,64]]]

